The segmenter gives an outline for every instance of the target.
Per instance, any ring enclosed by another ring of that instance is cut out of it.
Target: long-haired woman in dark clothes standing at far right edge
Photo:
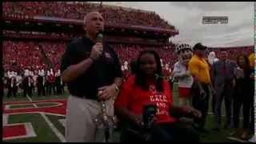
[[[235,69],[235,89],[234,89],[234,128],[231,135],[240,133],[240,109],[242,107],[242,134],[241,138],[246,140],[250,128],[250,104],[254,100],[252,80],[250,74],[254,72],[250,68],[249,60],[244,54],[239,54],[237,58],[238,67]]]

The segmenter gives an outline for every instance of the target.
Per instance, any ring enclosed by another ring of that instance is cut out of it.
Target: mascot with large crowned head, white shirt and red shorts
[[[188,62],[192,58],[192,48],[188,44],[176,46],[178,62],[174,64],[173,77],[178,79],[178,95],[180,106],[191,106],[190,89],[194,79],[188,70]]]

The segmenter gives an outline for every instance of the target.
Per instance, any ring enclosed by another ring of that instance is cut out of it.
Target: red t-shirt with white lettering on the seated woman
[[[140,86],[134,84],[134,80],[134,76],[131,76],[123,83],[118,98],[114,102],[116,107],[126,107],[134,114],[141,115],[144,105],[155,104],[158,106],[156,114],[157,123],[177,121],[169,113],[173,99],[170,86],[166,80],[163,80],[163,92],[157,92],[153,82],[149,82],[150,90],[142,90]]]

